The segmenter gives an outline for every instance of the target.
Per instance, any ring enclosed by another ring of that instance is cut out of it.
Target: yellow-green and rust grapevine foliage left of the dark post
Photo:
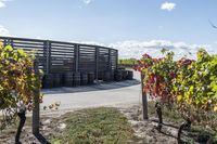
[[[40,90],[42,77],[42,71],[35,73],[34,62],[34,52],[14,50],[11,45],[0,43],[1,129],[16,117],[18,107],[33,109],[34,96]]]

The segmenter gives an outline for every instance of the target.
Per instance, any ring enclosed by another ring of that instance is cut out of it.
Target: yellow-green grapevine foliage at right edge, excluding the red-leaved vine
[[[216,129],[217,55],[201,49],[196,61],[181,60],[178,65],[173,89],[179,113],[184,119]]]

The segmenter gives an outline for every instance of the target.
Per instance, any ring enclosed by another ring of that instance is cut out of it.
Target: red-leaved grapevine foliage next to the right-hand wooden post
[[[176,77],[177,66],[174,52],[163,49],[162,53],[165,57],[152,58],[149,54],[143,54],[136,68],[144,76],[143,91],[167,105],[174,102],[171,82]]]

